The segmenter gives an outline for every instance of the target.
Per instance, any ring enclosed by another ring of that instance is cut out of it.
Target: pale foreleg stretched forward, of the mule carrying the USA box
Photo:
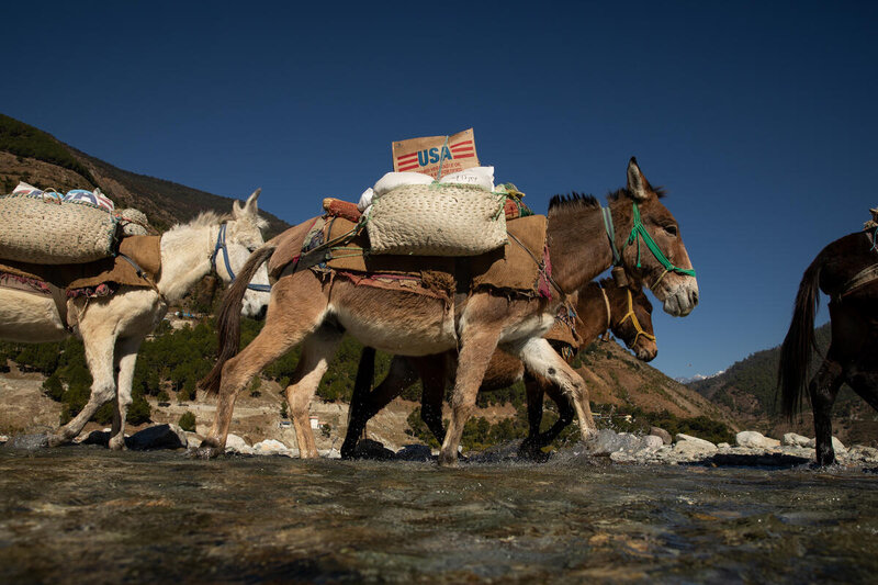
[[[549,379],[571,398],[576,417],[579,419],[579,432],[583,440],[587,440],[597,430],[597,425],[592,416],[588,390],[582,376],[552,349],[549,341],[542,338],[528,339],[520,347],[519,357],[530,372]]]

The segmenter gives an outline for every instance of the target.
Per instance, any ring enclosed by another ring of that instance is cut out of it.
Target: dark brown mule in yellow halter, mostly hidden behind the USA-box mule
[[[570,350],[559,351],[567,363],[573,361],[576,352],[595,341],[607,329],[624,341],[638,359],[650,361],[658,352],[652,328],[652,304],[640,286],[633,284],[617,286],[610,279],[601,280],[600,283],[589,282],[577,291],[574,307],[575,327],[579,336],[577,347],[556,339],[560,336],[553,335],[555,329],[545,335],[555,349]],[[563,329],[566,326],[561,324],[560,327]],[[374,391],[370,392],[374,356],[373,348],[363,348],[350,404],[348,431],[341,446],[341,457],[346,459],[354,457],[357,441],[369,419],[418,379],[421,380],[424,387],[420,416],[441,443],[446,435],[441,419],[442,398],[450,379],[449,374],[453,372],[454,352],[424,358],[394,356],[387,375]],[[521,443],[520,454],[534,455],[570,425],[575,412],[570,400],[561,393],[561,389],[543,376],[527,373],[521,360],[502,349],[497,349],[492,356],[479,392],[504,389],[522,378],[527,389],[529,435]],[[560,416],[549,430],[540,432],[542,401],[547,393],[558,405]]]

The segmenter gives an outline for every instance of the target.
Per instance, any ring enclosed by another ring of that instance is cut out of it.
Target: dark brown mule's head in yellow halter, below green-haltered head
[[[616,286],[610,279],[600,284],[610,304],[610,331],[641,361],[651,361],[658,353],[652,328],[652,303],[637,284]]]

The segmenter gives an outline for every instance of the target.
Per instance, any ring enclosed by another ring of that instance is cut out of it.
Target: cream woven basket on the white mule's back
[[[77,201],[0,196],[0,258],[37,265],[78,265],[113,256],[116,220]]]

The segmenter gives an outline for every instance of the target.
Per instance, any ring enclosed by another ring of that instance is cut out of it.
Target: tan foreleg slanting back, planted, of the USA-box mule
[[[472,307],[473,301],[470,303]],[[454,391],[451,394],[451,421],[439,451],[440,465],[454,466],[458,463],[458,447],[463,436],[463,426],[475,408],[475,396],[479,386],[482,385],[491,357],[497,348],[500,330],[499,323],[480,323],[463,327],[460,336],[458,373],[454,379]]]

